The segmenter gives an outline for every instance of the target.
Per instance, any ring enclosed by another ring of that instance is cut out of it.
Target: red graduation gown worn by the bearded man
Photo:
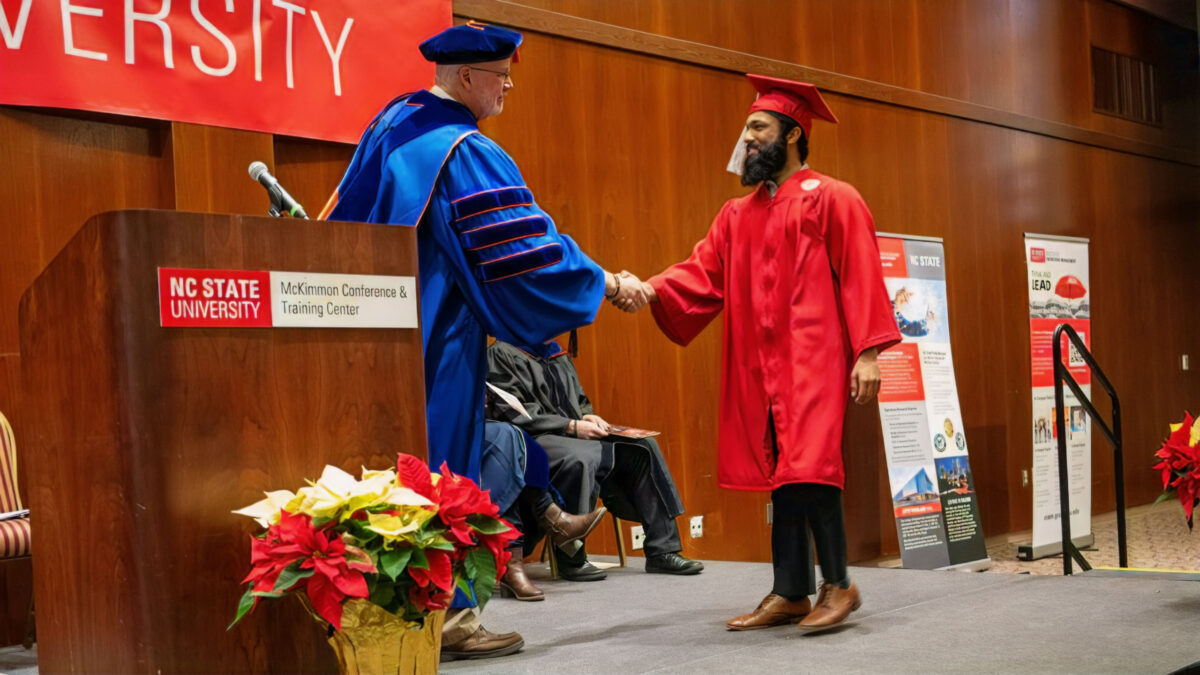
[[[858,191],[811,169],[774,197],[760,185],[726,202],[691,257],[649,282],[654,318],[679,345],[725,310],[720,485],[842,488],[851,369],[864,350],[900,341]]]

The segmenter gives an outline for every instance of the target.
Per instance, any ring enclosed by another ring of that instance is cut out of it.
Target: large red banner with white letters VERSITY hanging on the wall
[[[450,0],[0,0],[0,103],[355,143]]]

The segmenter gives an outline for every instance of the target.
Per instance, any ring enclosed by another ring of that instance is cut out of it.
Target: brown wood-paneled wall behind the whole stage
[[[527,35],[505,113],[484,123],[539,202],[600,263],[653,274],[686,256],[720,204],[752,95],[739,72],[818,83],[810,163],[864,195],[881,231],[943,237],[960,399],[988,534],[1031,526],[1022,232],[1092,239],[1094,351],[1124,396],[1130,504],[1150,454],[1200,400],[1200,95],[1196,34],[1108,0],[457,0],[458,20]],[[1096,114],[1088,48],[1164,74],[1160,127]],[[366,124],[367,120],[362,120]],[[22,434],[17,301],[88,216],[120,208],[260,214],[263,160],[319,210],[349,145],[186,124],[0,107],[0,410]],[[715,483],[719,329],[686,350],[649,315],[601,312],[580,370],[613,420],[658,428],[688,514],[685,554],[767,560],[767,496]],[[1102,396],[1103,398],[1103,396]],[[84,404],[84,402],[82,402]],[[878,417],[847,423],[852,560],[898,550]],[[1093,512],[1114,506],[1093,448]],[[36,522],[36,521],[35,521]],[[593,548],[611,551],[596,537]],[[1136,563],[1136,561],[1133,561]],[[7,577],[5,577],[7,574]],[[0,587],[20,572],[0,566]],[[20,579],[18,578],[19,586]],[[19,640],[11,595],[0,641]]]

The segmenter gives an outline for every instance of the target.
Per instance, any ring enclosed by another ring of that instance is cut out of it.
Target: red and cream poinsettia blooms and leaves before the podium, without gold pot
[[[444,464],[432,473],[406,454],[395,470],[364,468],[359,480],[326,466],[298,492],[268,492],[234,513],[265,531],[251,539],[252,568],[233,623],[260,598],[296,592],[338,631],[354,598],[416,622],[449,607],[456,587],[482,608],[517,537],[473,480]]]

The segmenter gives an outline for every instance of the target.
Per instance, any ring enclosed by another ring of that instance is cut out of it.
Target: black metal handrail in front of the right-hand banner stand
[[[1092,369],[1092,377],[1100,383],[1100,387],[1108,392],[1109,398],[1112,400],[1112,426],[1104,424],[1100,416],[1097,414],[1096,407],[1092,405],[1092,400],[1084,394],[1084,389],[1080,388],[1079,383],[1075,382],[1075,376],[1070,374],[1070,369],[1062,363],[1062,336],[1067,335],[1074,345],[1075,351],[1082,357],[1084,363],[1087,368]],[[1058,501],[1062,506],[1062,514],[1060,519],[1062,520],[1062,573],[1063,575],[1072,574],[1070,560],[1075,558],[1079,562],[1079,567],[1087,572],[1092,568],[1084,560],[1084,554],[1079,552],[1075,548],[1075,543],[1070,538],[1070,494],[1068,492],[1067,474],[1069,473],[1069,467],[1067,465],[1067,426],[1066,426],[1066,410],[1063,407],[1063,394],[1062,383],[1066,382],[1075,399],[1079,400],[1080,405],[1087,412],[1087,416],[1092,419],[1096,428],[1104,432],[1104,437],[1112,443],[1112,470],[1116,473],[1116,490],[1117,490],[1117,556],[1121,561],[1121,567],[1129,567],[1129,557],[1126,550],[1126,527],[1124,527],[1124,460],[1122,459],[1121,452],[1121,399],[1117,398],[1116,389],[1109,383],[1109,378],[1104,376],[1104,371],[1100,370],[1099,364],[1092,357],[1092,352],[1087,351],[1087,346],[1075,333],[1075,329],[1070,324],[1062,323],[1054,331],[1054,405],[1055,405],[1055,431],[1058,434]]]

